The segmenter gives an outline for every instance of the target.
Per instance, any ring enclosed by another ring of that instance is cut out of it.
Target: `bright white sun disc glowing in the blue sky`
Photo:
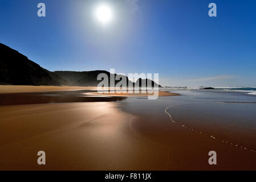
[[[102,24],[108,24],[113,19],[113,11],[108,5],[99,5],[95,9],[96,19]]]

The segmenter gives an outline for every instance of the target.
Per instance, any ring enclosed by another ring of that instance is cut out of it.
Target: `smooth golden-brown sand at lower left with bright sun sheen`
[[[167,148],[136,135],[133,116],[117,105],[1,106],[0,169],[164,169]],[[45,166],[36,163],[40,150],[46,152]]]

